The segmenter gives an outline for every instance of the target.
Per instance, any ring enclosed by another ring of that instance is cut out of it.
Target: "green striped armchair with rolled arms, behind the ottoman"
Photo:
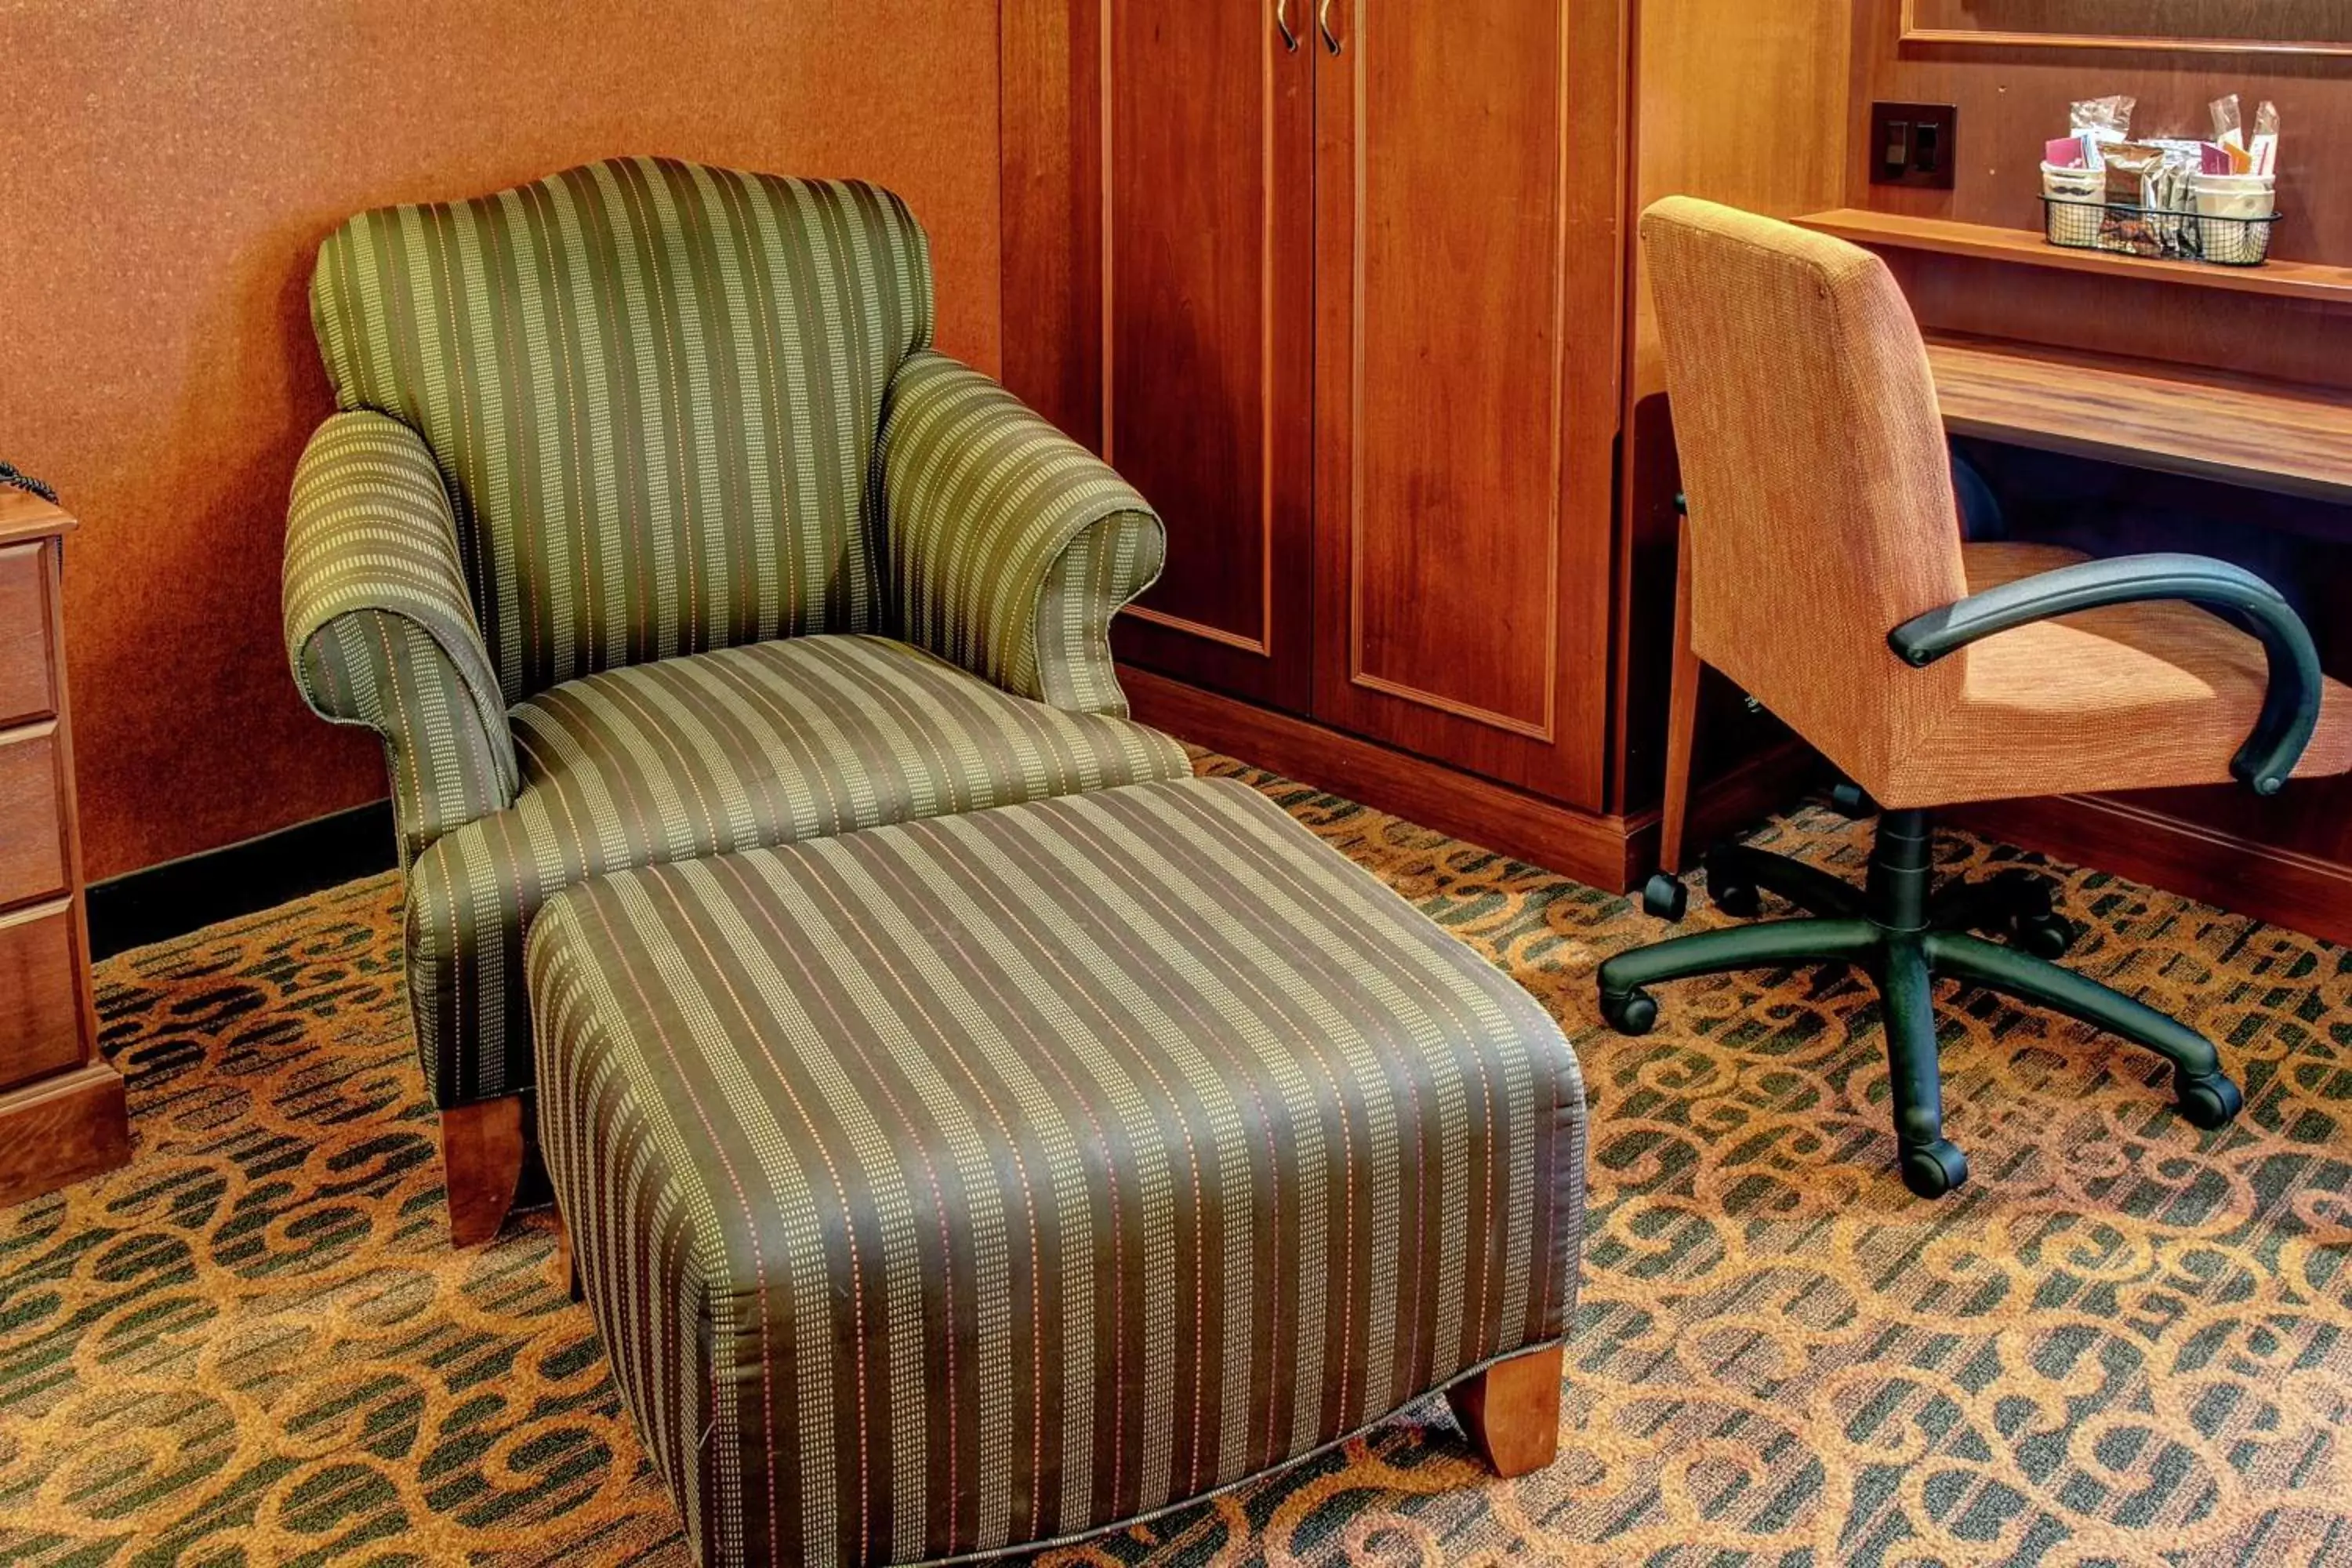
[[[1190,771],[1108,644],[1160,520],[931,350],[891,193],[597,162],[350,219],[310,315],[287,656],[383,741],[459,1244],[515,1194],[564,886]]]

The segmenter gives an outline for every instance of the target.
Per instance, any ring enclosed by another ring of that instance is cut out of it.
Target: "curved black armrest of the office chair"
[[[2303,759],[2319,726],[2319,649],[2303,618],[2277,588],[2244,567],[2204,555],[2124,555],[2077,562],[2002,583],[1931,609],[1886,635],[1903,663],[1926,668],[1957,649],[1999,632],[2107,604],[2180,599],[2227,616],[2270,658],[2270,684],[2253,733],[2230,759],[2230,771],[2258,795],[2277,795]]]

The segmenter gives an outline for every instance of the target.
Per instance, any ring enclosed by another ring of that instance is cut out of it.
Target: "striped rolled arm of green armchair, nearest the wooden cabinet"
[[[1002,386],[929,350],[891,378],[880,468],[906,639],[1018,696],[1124,717],[1110,618],[1167,559],[1143,496]]]

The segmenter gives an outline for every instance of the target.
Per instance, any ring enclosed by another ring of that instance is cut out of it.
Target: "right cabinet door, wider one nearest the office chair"
[[[1604,797],[1621,26],[1317,16],[1315,715]]]

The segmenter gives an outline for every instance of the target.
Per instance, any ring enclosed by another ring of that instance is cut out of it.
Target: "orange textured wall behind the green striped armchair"
[[[877,179],[931,233],[941,348],[997,364],[993,0],[16,0],[0,61],[0,458],[82,520],[92,877],[383,795],[278,630],[346,214],[612,153]]]

